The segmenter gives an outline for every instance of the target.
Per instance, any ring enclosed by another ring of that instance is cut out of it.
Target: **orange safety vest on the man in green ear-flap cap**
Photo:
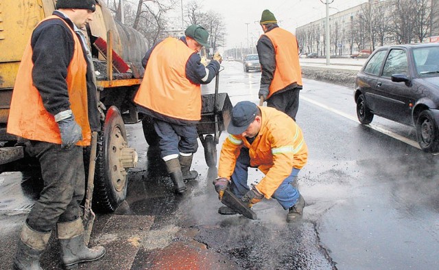
[[[146,65],[134,102],[180,120],[201,119],[201,87],[186,77],[193,49],[176,38],[158,43]]]

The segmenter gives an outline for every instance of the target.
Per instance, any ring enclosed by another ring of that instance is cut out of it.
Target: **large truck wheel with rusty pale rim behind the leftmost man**
[[[128,148],[125,124],[119,109],[111,106],[97,138],[93,209],[113,212],[126,199],[128,172],[121,164],[121,152]]]

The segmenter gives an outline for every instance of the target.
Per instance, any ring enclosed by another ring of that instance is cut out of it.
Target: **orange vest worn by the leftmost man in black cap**
[[[59,19],[66,23],[60,17],[54,15],[48,16],[43,21],[49,19]],[[91,142],[91,129],[88,123],[87,63],[78,36],[76,36],[69,25],[67,26],[71,30],[73,40],[75,41],[73,58],[67,68],[67,91],[69,93],[71,111],[75,115],[75,121],[82,128],[83,138],[76,145],[89,146]],[[29,38],[29,43],[25,48],[19,72],[16,76],[14,91],[12,92],[7,132],[25,139],[61,144],[60,129],[55,122],[54,115],[51,115],[45,109],[40,93],[33,85],[32,69],[34,68],[34,63],[32,62],[32,54],[31,39]]]

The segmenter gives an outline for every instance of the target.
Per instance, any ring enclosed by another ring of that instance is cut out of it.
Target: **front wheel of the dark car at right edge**
[[[439,149],[438,124],[429,110],[421,112],[416,120],[416,137],[422,150],[436,153]]]

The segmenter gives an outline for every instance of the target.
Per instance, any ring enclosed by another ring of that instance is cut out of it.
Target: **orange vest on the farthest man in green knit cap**
[[[302,71],[299,65],[297,39],[294,34],[276,27],[266,32],[265,36],[268,36],[270,41],[272,41],[276,54],[276,69],[274,70],[270,92],[267,97],[270,98],[274,93],[294,82],[301,86]]]

